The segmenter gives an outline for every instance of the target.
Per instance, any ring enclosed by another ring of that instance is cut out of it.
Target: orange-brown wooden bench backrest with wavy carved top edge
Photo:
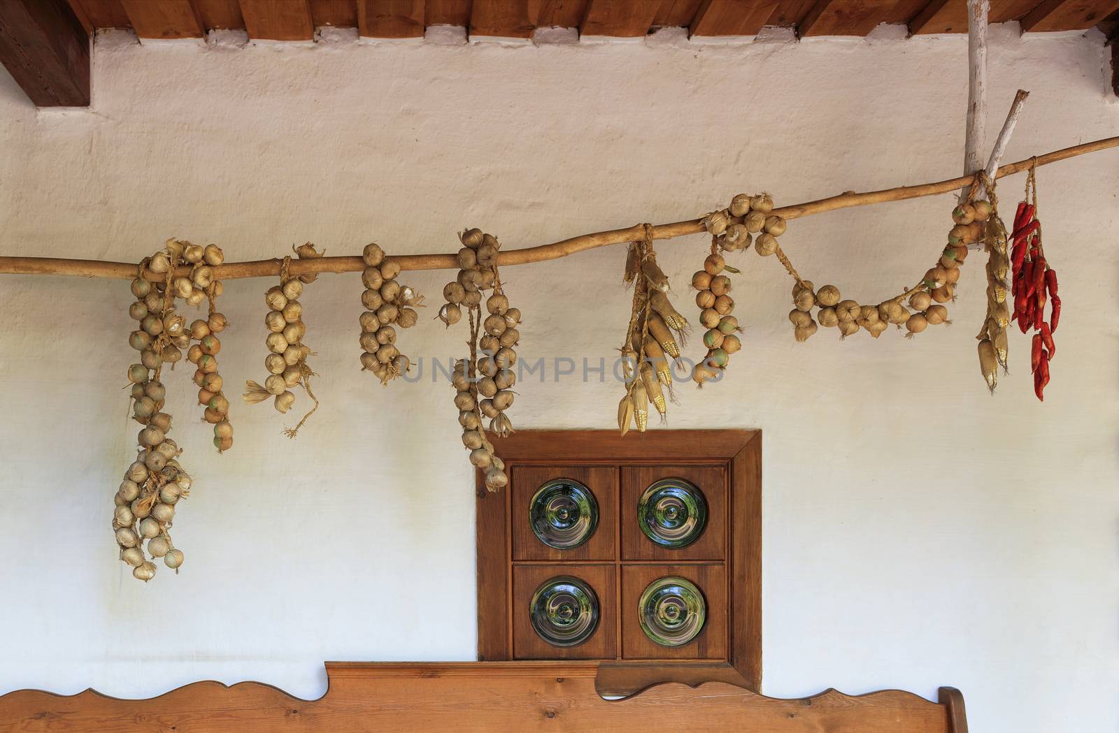
[[[0,731],[647,733],[655,721],[677,721],[673,727],[688,733],[966,733],[950,726],[946,704],[900,691],[849,696],[829,689],[779,699],[725,683],[670,683],[605,701],[595,693],[594,669],[585,663],[328,663],[329,689],[316,701],[253,682],[200,682],[151,699],[19,691],[0,697]]]

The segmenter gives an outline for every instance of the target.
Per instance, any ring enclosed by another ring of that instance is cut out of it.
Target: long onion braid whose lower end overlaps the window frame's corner
[[[459,274],[443,288],[446,302],[436,317],[450,327],[462,318],[463,310],[467,312],[470,359],[455,363],[454,404],[459,408],[462,445],[470,451],[470,463],[486,472],[486,487],[498,491],[509,478],[505,463],[486,436],[482,419],[489,418],[489,432],[498,437],[513,432],[506,411],[513,406],[513,387],[517,382],[513,368],[520,343],[520,310],[509,307],[501,287],[497,265],[501,244],[497,237],[480,229],[467,229],[459,234],[459,240],[462,242],[457,255]],[[482,297],[487,291],[492,294],[486,298],[483,316]]]

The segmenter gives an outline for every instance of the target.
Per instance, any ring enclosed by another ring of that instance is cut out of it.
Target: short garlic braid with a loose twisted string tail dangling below
[[[322,257],[322,253],[316,250],[310,242],[294,249],[300,258]],[[294,438],[308,418],[319,409],[319,400],[311,391],[311,377],[314,377],[316,372],[307,364],[311,348],[303,343],[307,325],[303,323],[303,305],[299,302],[299,296],[303,294],[303,284],[313,282],[317,275],[292,275],[290,267],[289,255],[283,258],[280,268],[280,284],[264,293],[264,303],[269,307],[264,316],[264,325],[269,332],[264,339],[264,344],[269,349],[269,355],[264,358],[264,368],[269,370],[269,377],[264,380],[264,384],[253,380],[246,381],[242,397],[248,404],[257,404],[272,398],[276,411],[285,413],[295,403],[295,393],[292,390],[301,387],[314,404],[295,427],[284,429],[285,436]]]

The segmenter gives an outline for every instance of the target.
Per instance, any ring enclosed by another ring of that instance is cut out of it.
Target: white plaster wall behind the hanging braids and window
[[[965,57],[961,37],[103,42],[90,111],[37,112],[0,76],[0,253],[134,261],[169,236],[231,259],[308,239],[333,255],[370,240],[451,251],[464,226],[523,247],[693,217],[740,191],[792,203],[939,180],[960,168]],[[1119,132],[1104,59],[1094,35],[996,34],[991,125],[1032,92],[1007,160]],[[1119,152],[1040,183],[1065,303],[1044,404],[1024,337],[998,394],[981,384],[977,265],[952,327],[797,344],[778,263],[736,261],[745,349],[723,383],[681,389],[670,423],[765,432],[767,693],[948,684],[976,731],[1119,727]],[[1012,210],[1022,184],[1000,190]],[[951,206],[812,217],[782,241],[817,284],[874,302],[924,272]],[[705,247],[660,245],[681,306]],[[612,354],[621,266],[610,248],[510,268],[521,354]],[[432,301],[446,279],[405,277]],[[265,287],[227,285],[229,384],[262,377]],[[358,372],[359,292],[357,275],[308,287],[322,408],[295,441],[280,435],[292,419],[238,406],[236,445],[217,456],[188,372],[169,380],[196,477],[175,532],[187,562],[143,586],[109,529],[137,431],[128,285],[0,276],[0,692],[148,696],[216,678],[316,697],[325,659],[472,658],[472,479],[451,390]],[[425,318],[402,341],[448,356],[462,339]],[[619,390],[549,374],[520,392],[518,427],[609,428]]]

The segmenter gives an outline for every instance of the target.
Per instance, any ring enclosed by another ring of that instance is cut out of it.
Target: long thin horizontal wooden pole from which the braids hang
[[[1119,147],[1119,136],[1104,137],[1072,147],[1055,150],[1044,155],[1028,158],[1016,163],[1008,163],[998,169],[995,177],[1004,178],[1028,170],[1031,165],[1047,165],[1057,161],[1084,155],[1101,150]],[[920,185],[902,185],[882,191],[867,191],[856,193],[849,191],[826,199],[797,203],[793,206],[774,209],[773,213],[786,219],[799,219],[814,213],[825,213],[838,209],[847,209],[857,206],[869,206],[872,203],[885,203],[886,201],[904,201],[906,199],[918,199],[925,196],[937,196],[948,193],[961,185],[970,183],[971,175],[938,181],[934,183],[922,183]],[[653,239],[673,239],[685,235],[699,234],[704,230],[702,219],[689,219],[687,221],[676,221],[674,223],[662,223],[652,227]],[[609,245],[620,245],[633,241],[645,236],[642,225],[634,225],[626,229],[612,229],[610,231],[599,231],[591,235],[582,235],[551,245],[539,245],[537,247],[526,247],[523,249],[509,249],[498,255],[500,265],[527,265],[529,263],[540,263],[549,259],[558,259],[575,253],[581,253],[596,247]],[[432,255],[402,255],[393,257],[401,265],[401,269],[455,269],[458,261],[454,255],[432,254]],[[218,279],[237,279],[242,277],[275,277],[280,275],[281,259],[258,259],[244,263],[228,263],[216,268],[215,276]],[[322,273],[357,273],[365,265],[360,257],[321,257],[319,259],[292,260],[292,275],[310,275]],[[110,277],[117,279],[130,279],[137,276],[137,266],[130,263],[110,263],[91,259],[64,259],[55,257],[0,257],[0,274],[8,275],[68,275],[75,277]],[[187,270],[184,270],[184,275]],[[163,276],[145,273],[151,279],[162,279]]]

